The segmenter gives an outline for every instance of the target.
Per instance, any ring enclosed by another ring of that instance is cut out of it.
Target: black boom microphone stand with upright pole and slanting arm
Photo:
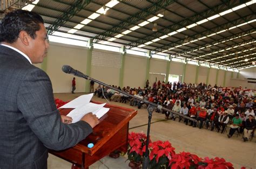
[[[76,75],[76,74],[74,74],[74,75]],[[191,121],[195,121],[195,122],[196,122],[196,120],[193,119],[193,118],[191,118],[191,117],[187,117],[187,116],[185,116],[185,115],[183,115],[183,114],[180,114],[179,112],[175,112],[175,111],[172,111],[172,110],[170,110],[170,109],[164,108],[162,105],[158,105],[158,104],[156,104],[156,103],[152,103],[152,102],[149,102],[149,101],[144,100],[144,99],[142,99],[142,98],[138,98],[138,97],[136,97],[136,96],[133,96],[133,95],[131,95],[131,94],[128,94],[128,93],[126,93],[125,91],[116,89],[116,88],[114,88],[114,87],[112,87],[112,86],[106,85],[106,84],[103,83],[103,82],[100,82],[100,81],[98,81],[98,80],[92,79],[92,78],[90,78],[90,76],[87,76],[87,75],[84,75],[84,74],[83,74],[83,75],[80,75],[80,76],[78,76],[78,77],[82,77],[82,78],[84,78],[84,79],[94,81],[94,82],[96,82],[96,83],[98,83],[98,84],[100,84],[100,85],[102,85],[102,86],[106,86],[106,87],[108,87],[108,88],[111,88],[111,89],[113,89],[113,90],[116,90],[116,91],[118,91],[119,93],[122,93],[122,94],[124,94],[124,95],[126,95],[126,96],[129,96],[129,97],[132,97],[132,98],[135,98],[136,100],[142,101],[142,102],[144,102],[144,103],[146,103],[146,104],[148,105],[147,111],[149,112],[149,121],[148,121],[148,123],[147,123],[146,152],[145,152],[145,156],[144,156],[144,158],[143,158],[143,169],[149,168],[150,125],[151,125],[151,118],[152,118],[152,113],[153,113],[154,109],[157,109],[157,108],[160,109],[160,110],[163,109],[163,110],[165,110],[165,111],[172,112],[173,114],[176,114],[176,115],[178,115],[178,116],[181,116],[181,117],[183,117],[183,118],[186,118],[186,119],[189,119],[189,120],[191,120]]]

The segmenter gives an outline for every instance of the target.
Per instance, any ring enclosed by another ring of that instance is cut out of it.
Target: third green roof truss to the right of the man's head
[[[190,18],[186,18],[186,19],[184,19],[183,21],[181,21],[181,22],[179,22],[177,24],[174,24],[174,25],[172,25],[170,27],[165,27],[164,29],[159,30],[158,32],[152,33],[149,36],[144,38],[146,40],[139,39],[139,40],[133,41],[132,43],[127,44],[125,47],[127,49],[130,49],[130,48],[132,48],[134,46],[137,47],[138,45],[145,44],[147,41],[153,40],[154,37],[164,36],[164,35],[172,32],[172,31],[177,31],[178,29],[181,29],[182,27],[185,27],[185,26],[193,24],[193,23],[197,23],[200,20],[203,20],[203,19],[208,18],[210,16],[213,16],[213,15],[219,13],[219,12],[225,11],[227,9],[233,8],[234,6],[242,4],[241,1],[235,0],[235,1],[230,2],[229,6],[227,6],[226,2],[227,1],[225,1],[224,3],[222,3],[220,5],[215,6],[212,9],[208,9],[208,10],[206,10],[204,12],[196,13],[196,15],[194,15],[194,16],[192,16]],[[161,51],[164,51],[164,50],[166,50],[166,49],[163,49]],[[157,51],[158,51],[158,48],[157,48]]]

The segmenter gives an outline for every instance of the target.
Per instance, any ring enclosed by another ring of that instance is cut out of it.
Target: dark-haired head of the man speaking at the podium
[[[33,64],[43,62],[49,47],[48,35],[41,16],[16,10],[2,20],[0,41],[28,55]]]

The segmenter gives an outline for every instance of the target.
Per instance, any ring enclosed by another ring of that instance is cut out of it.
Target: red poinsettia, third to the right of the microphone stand
[[[215,157],[213,158],[208,158],[205,157],[205,159],[202,161],[200,166],[198,167],[199,169],[233,169],[233,164],[230,162],[226,162],[224,158],[219,158]]]

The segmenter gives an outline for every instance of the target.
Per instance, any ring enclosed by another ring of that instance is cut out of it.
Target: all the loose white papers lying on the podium
[[[73,108],[73,110],[70,111],[68,115],[66,115],[72,117],[72,123],[80,121],[80,119],[89,112],[92,112],[93,115],[96,115],[98,118],[100,118],[105,115],[107,111],[109,111],[109,108],[104,108],[106,103],[90,103],[92,96],[93,93],[79,96],[60,108]]]

